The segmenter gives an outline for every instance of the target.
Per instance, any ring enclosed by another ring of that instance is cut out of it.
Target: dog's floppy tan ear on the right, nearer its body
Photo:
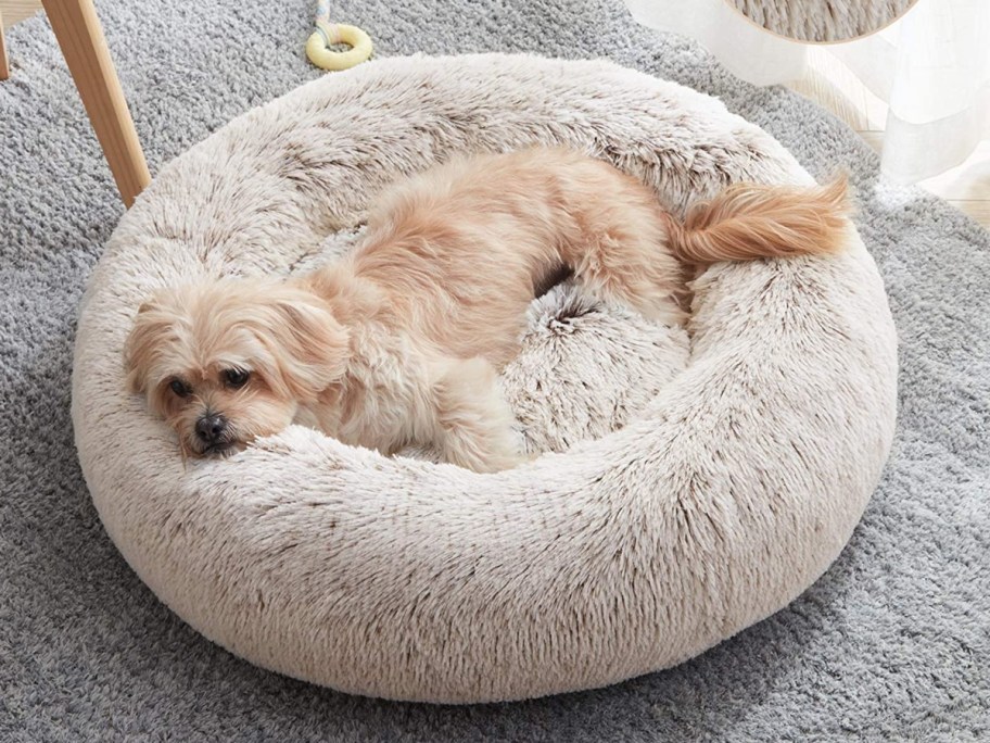
[[[268,310],[267,337],[258,340],[272,357],[282,391],[313,400],[344,375],[351,358],[347,330],[326,302],[303,289],[283,285],[262,301]]]

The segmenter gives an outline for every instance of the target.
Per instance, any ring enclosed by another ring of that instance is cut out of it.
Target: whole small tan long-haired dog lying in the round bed
[[[359,247],[315,273],[158,292],[127,341],[128,386],[183,455],[237,451],[297,423],[385,454],[435,445],[495,471],[523,458],[497,369],[562,272],[605,301],[683,323],[688,272],[832,253],[847,212],[843,180],[740,185],[680,223],[638,180],[575,152],[460,160],[391,189]]]

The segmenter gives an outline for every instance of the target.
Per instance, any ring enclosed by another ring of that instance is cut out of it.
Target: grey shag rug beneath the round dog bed
[[[98,2],[152,171],[320,74],[309,0]],[[73,449],[85,281],[122,214],[43,20],[0,84],[0,740],[980,741],[990,738],[990,235],[885,184],[854,134],[611,0],[334,3],[380,54],[608,56],[722,98],[816,175],[846,166],[901,338],[884,481],[787,609],[677,668],[506,705],[359,698],[259,670],[183,625],[116,553]],[[621,112],[617,112],[621,115]]]

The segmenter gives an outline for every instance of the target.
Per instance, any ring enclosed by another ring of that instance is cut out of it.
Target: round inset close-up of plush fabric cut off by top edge
[[[917,0],[726,0],[774,34],[802,41],[846,41],[893,23]]]

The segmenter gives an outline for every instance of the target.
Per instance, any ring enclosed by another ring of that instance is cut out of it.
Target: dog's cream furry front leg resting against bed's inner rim
[[[523,462],[495,367],[474,357],[443,360],[433,368],[434,439],[444,459],[478,473]]]

